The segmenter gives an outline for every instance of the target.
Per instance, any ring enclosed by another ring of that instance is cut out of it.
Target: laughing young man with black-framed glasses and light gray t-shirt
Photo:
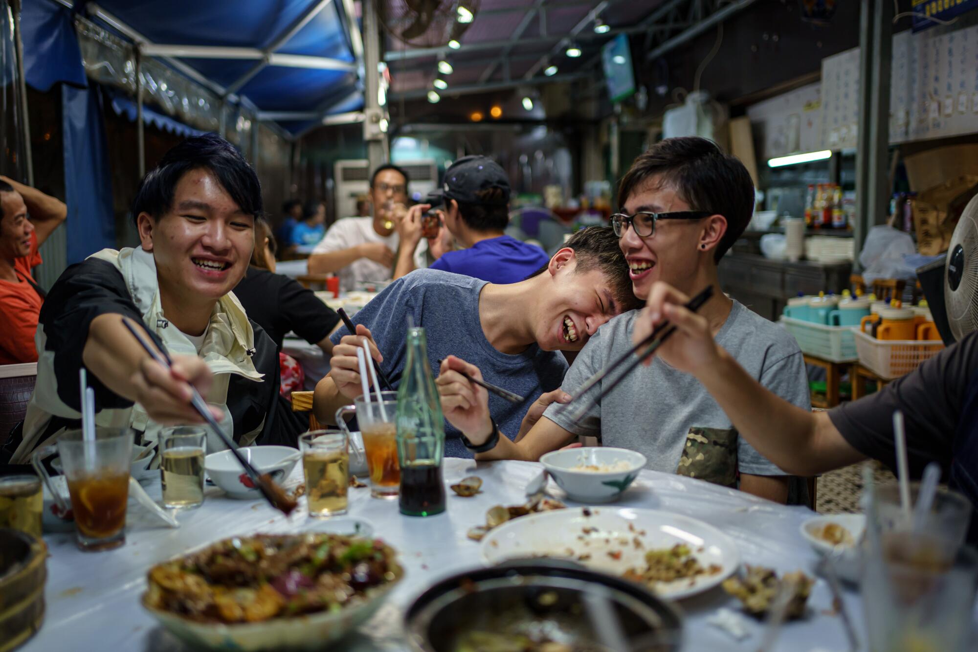
[[[717,264],[754,210],[754,186],[742,163],[705,138],[670,138],[653,145],[622,178],[622,212],[611,221],[628,261],[636,297],[666,280],[692,296],[713,286],[699,314],[717,341],[750,375],[787,401],[811,409],[808,378],[797,343],[777,324],[751,312],[720,290]],[[591,338],[567,372],[557,396],[526,435],[510,442],[490,419],[486,393],[456,373],[478,377],[477,365],[451,357],[438,385],[445,418],[473,447],[498,442],[478,459],[539,459],[576,436],[598,437],[604,445],[645,454],[647,468],[678,473],[771,498],[804,499],[804,484],[737,436],[730,419],[694,378],[656,359],[604,396],[581,419],[581,404],[600,394],[596,386],[579,401],[565,403],[594,373],[632,347],[638,311],[612,319]],[[545,397],[544,400],[550,400]],[[532,411],[536,414],[540,410]],[[789,492],[789,489],[793,489]]]

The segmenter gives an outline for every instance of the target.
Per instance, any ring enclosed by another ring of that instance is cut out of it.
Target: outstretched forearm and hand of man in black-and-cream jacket
[[[139,344],[117,313],[101,314],[88,327],[82,360],[113,393],[140,403],[160,424],[204,423],[191,405],[191,385],[206,396],[210,369],[196,355],[173,355],[167,371]],[[136,324],[142,328],[142,324]],[[147,336],[147,340],[150,337]],[[211,408],[214,418],[224,413]]]

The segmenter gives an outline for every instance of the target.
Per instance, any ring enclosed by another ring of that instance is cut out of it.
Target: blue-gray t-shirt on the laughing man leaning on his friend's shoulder
[[[476,278],[433,269],[419,269],[397,279],[351,319],[371,330],[383,353],[381,369],[397,389],[407,362],[407,317],[424,328],[428,362],[435,378],[438,360],[458,355],[474,364],[487,383],[506,388],[525,400],[516,404],[489,395],[489,413],[501,432],[515,437],[526,410],[542,393],[560,387],[567,360],[560,351],[537,345],[515,355],[494,349],[479,321],[479,293],[488,283]],[[331,338],[338,344],[348,331],[340,328]],[[445,423],[445,456],[472,457],[459,431]]]

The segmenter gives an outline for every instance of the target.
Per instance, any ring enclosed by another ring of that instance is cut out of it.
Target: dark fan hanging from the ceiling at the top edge
[[[368,0],[369,1],[369,0]],[[379,0],[378,0],[379,2]],[[459,22],[459,7],[474,16],[480,0],[384,0],[383,26],[391,36],[416,48],[436,48],[458,39],[468,23]]]

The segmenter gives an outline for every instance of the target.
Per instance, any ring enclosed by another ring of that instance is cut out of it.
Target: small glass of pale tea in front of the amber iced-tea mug
[[[346,513],[350,484],[349,438],[341,430],[311,430],[299,436],[309,516]]]

